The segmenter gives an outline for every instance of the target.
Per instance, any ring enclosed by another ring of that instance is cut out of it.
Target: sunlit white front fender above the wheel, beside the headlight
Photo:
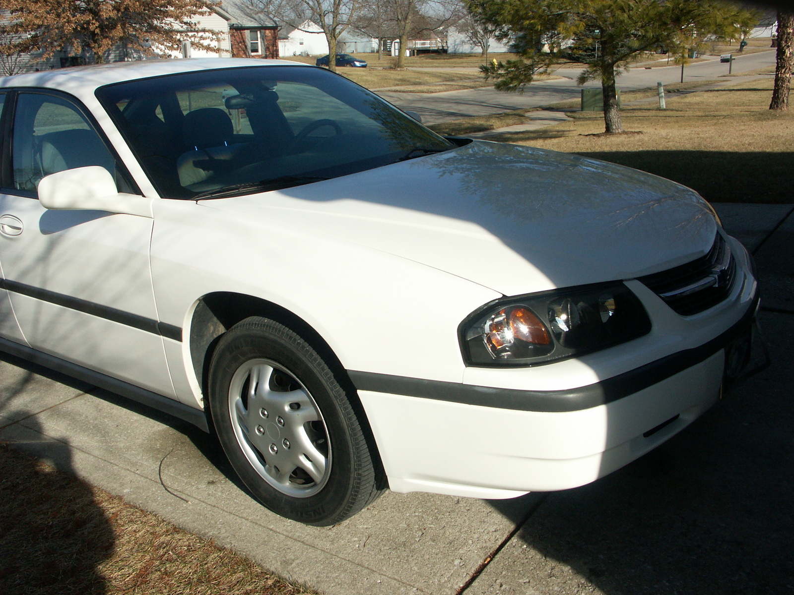
[[[263,200],[267,198],[263,197]],[[183,328],[180,398],[200,406],[187,337],[199,298],[262,298],[310,324],[348,370],[461,382],[457,325],[499,297],[483,286],[345,240],[211,208],[155,202],[152,278],[160,321]],[[167,340],[167,343],[172,343]],[[175,342],[174,342],[175,343]],[[191,377],[192,376],[192,377]],[[187,380],[187,382],[186,382]],[[186,394],[187,386],[192,394]]]

